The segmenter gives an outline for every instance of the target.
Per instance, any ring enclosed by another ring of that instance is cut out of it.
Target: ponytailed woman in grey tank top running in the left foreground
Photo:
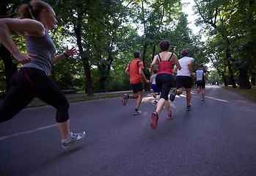
[[[12,119],[35,97],[56,109],[56,125],[62,135],[62,147],[68,148],[84,139],[85,132],[71,133],[67,98],[48,76],[51,65],[73,56],[75,48],[66,48],[64,54],[55,56],[55,45],[48,30],[55,29],[56,15],[53,8],[40,0],[23,4],[21,19],[0,19],[0,43],[21,62],[23,67],[12,76],[12,87],[0,107],[0,122]],[[26,40],[26,52],[21,53],[10,32],[20,32]]]

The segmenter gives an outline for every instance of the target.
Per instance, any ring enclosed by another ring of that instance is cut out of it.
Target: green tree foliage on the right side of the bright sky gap
[[[197,14],[200,15],[197,24],[203,26],[208,32],[208,45],[218,43],[216,48],[219,49],[211,51],[210,54],[220,57],[219,61],[213,65],[222,65],[222,70],[225,70],[228,65],[229,72],[224,74],[229,74],[230,78],[238,75],[237,81],[240,84],[247,84],[241,87],[250,88],[249,80],[242,80],[248,79],[244,74],[247,70],[252,75],[255,74],[256,2],[254,0],[194,1],[197,4],[195,8]]]

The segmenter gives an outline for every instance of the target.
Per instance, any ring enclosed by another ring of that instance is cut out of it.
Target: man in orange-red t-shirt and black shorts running
[[[130,64],[125,69],[125,73],[130,76],[130,83],[131,88],[133,89],[134,94],[133,95],[123,95],[122,96],[122,105],[125,106],[127,103],[128,98],[138,98],[136,101],[136,108],[134,111],[134,115],[142,114],[142,111],[139,111],[139,105],[142,103],[142,78],[146,81],[147,84],[150,83],[149,80],[145,77],[143,73],[143,62],[139,59],[141,58],[141,55],[139,51],[134,52],[134,60],[130,62]]]

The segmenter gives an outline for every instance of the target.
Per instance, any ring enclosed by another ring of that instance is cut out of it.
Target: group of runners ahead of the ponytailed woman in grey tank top
[[[169,52],[169,40],[162,40],[159,43],[161,48],[161,53],[154,56],[153,62],[150,65],[150,72],[153,72],[153,76],[148,80],[143,73],[145,68],[141,59],[141,54],[139,51],[134,52],[134,59],[129,63],[125,69],[125,73],[130,76],[131,89],[133,94],[122,96],[122,105],[126,106],[129,98],[136,98],[136,107],[134,115],[142,114],[139,111],[139,106],[142,103],[142,79],[145,80],[147,84],[151,83],[153,89],[154,104],[156,105],[156,111],[151,113],[150,127],[156,129],[158,126],[158,117],[162,109],[167,110],[167,118],[172,119],[172,110],[170,109],[169,100],[174,101],[176,95],[181,95],[183,89],[186,89],[186,111],[191,109],[191,87],[192,87],[192,77],[197,78],[197,92],[202,90],[202,101],[205,100],[205,79],[208,80],[206,70],[203,69],[203,64],[200,64],[198,70],[193,73],[192,65],[194,58],[190,57],[189,48],[183,49],[181,59],[178,59],[176,54]],[[156,68],[157,67],[157,68]],[[173,89],[171,93],[170,90],[174,86],[174,78],[172,73],[177,74],[175,78],[176,89]],[[157,102],[156,97],[160,95]]]

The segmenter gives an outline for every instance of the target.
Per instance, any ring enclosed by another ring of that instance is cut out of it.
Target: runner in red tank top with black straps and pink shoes
[[[158,63],[156,85],[161,92],[156,111],[151,114],[152,121],[150,122],[150,127],[154,130],[157,128],[158,116],[164,107],[167,109],[167,117],[172,119],[172,110],[170,109],[168,100],[169,91],[172,87],[173,81],[172,64],[175,63],[178,69],[181,68],[177,56],[174,53],[169,52],[169,40],[163,40],[159,45],[162,52],[154,57],[150,67],[151,72],[153,67],[155,67],[155,65]]]

